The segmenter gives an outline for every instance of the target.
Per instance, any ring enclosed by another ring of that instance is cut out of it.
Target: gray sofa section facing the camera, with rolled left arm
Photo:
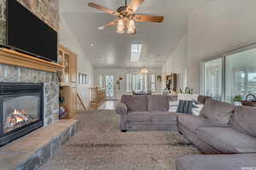
[[[204,103],[207,97],[199,96]],[[170,113],[169,101],[177,96],[123,95],[116,107],[120,115],[120,129],[127,130],[170,130],[177,132],[177,113]]]

